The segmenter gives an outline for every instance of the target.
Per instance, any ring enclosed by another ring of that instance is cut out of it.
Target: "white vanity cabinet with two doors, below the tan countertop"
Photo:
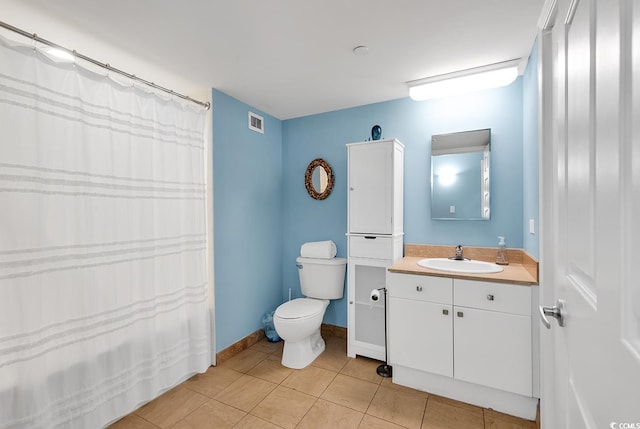
[[[537,289],[387,273],[393,382],[533,419]]]

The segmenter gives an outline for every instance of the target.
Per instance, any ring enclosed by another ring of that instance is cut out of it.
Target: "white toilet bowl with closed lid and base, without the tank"
[[[284,340],[282,365],[301,369],[324,351],[320,325],[328,305],[327,299],[297,298],[276,309],[273,322]]]

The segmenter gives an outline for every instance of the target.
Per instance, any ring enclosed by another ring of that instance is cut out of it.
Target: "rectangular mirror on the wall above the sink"
[[[431,219],[488,220],[491,129],[431,136]]]

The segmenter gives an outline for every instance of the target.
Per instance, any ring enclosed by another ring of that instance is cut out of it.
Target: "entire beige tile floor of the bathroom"
[[[518,419],[391,383],[380,362],[346,355],[344,339],[310,366],[280,364],[283,343],[262,340],[209,368],[110,429],[535,429]]]

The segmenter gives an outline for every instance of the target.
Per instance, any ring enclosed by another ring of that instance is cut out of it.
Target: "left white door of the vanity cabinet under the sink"
[[[452,307],[390,298],[389,345],[392,365],[453,376]]]

